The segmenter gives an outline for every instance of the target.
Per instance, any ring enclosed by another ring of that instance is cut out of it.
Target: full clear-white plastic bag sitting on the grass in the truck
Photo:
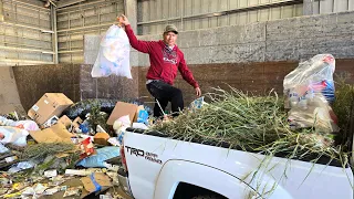
[[[331,54],[319,54],[302,62],[284,77],[285,108],[294,128],[312,127],[317,132],[337,132],[334,102],[335,60]]]

